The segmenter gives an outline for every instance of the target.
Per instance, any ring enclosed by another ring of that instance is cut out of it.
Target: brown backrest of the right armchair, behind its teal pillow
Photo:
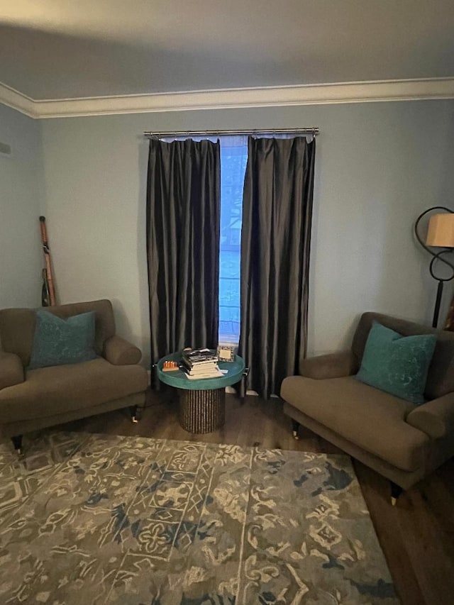
[[[367,336],[373,321],[402,334],[415,336],[419,334],[436,334],[437,342],[431,364],[428,368],[426,381],[426,399],[437,399],[447,393],[454,392],[454,333],[436,330],[422,323],[414,323],[382,313],[363,313],[358,328],[353,336],[352,349],[358,364],[362,362]]]

